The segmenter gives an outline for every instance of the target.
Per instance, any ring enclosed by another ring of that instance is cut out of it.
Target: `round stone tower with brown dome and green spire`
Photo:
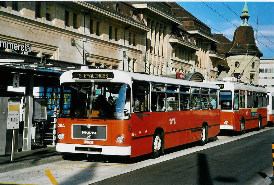
[[[248,25],[249,19],[247,4],[242,11],[241,25],[235,30],[230,49],[226,52],[226,60],[230,67],[228,74],[237,77],[242,82],[258,85],[259,62],[263,53],[258,49],[254,30]]]

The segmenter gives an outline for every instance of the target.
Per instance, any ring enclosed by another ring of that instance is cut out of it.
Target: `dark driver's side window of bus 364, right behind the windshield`
[[[133,81],[133,111],[148,112],[149,111],[149,94],[150,85],[148,82]]]

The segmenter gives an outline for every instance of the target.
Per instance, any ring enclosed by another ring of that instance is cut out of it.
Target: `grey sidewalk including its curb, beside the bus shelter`
[[[40,147],[31,151],[16,152],[13,161],[11,154],[1,155],[0,173],[63,160],[63,155],[64,153],[56,151],[56,147]]]

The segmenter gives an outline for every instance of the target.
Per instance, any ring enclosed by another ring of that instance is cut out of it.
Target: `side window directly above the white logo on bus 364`
[[[167,85],[167,111],[179,110],[178,86]]]

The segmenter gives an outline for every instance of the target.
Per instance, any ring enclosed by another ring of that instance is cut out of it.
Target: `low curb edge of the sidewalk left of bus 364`
[[[51,156],[43,159],[35,159],[35,160],[25,160],[23,162],[11,162],[9,164],[4,164],[1,165],[0,168],[0,173],[8,172],[8,171],[13,171],[16,169],[22,169],[22,168],[28,168],[32,166],[38,166],[38,165],[43,165],[51,162],[56,162],[59,160],[63,160],[62,155],[60,156]]]

